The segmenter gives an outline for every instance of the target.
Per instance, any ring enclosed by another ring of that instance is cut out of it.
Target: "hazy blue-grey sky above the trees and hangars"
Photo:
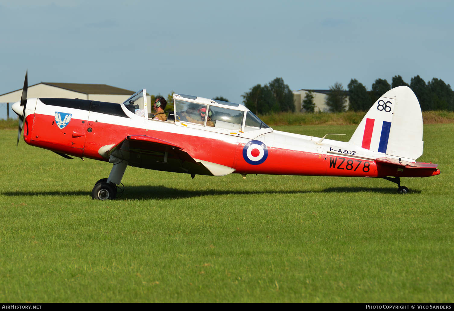
[[[0,94],[39,82],[109,84],[242,103],[419,75],[454,84],[454,1],[0,0]]]

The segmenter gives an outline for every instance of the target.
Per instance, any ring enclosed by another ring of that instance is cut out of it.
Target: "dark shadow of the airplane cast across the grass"
[[[320,190],[219,190],[219,189],[204,189],[204,190],[186,190],[178,188],[168,188],[162,186],[129,186],[121,199],[136,199],[136,200],[166,200],[178,199],[189,197],[203,197],[213,195],[254,195],[254,194],[297,194],[297,193],[361,193],[373,192],[394,194],[395,188],[382,187],[382,188],[367,188],[367,187],[330,187]],[[411,193],[421,193],[420,190],[412,190]],[[6,196],[87,196],[90,195],[89,191],[6,191],[1,193]],[[361,195],[361,194],[360,194]]]

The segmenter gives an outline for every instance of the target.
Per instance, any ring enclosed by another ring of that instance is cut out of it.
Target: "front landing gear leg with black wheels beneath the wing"
[[[115,161],[118,160],[118,161]],[[128,161],[117,159],[111,156],[109,162],[114,162],[114,167],[110,171],[109,178],[99,179],[93,190],[91,191],[91,197],[97,200],[112,200],[117,195],[117,186],[121,183],[124,171],[128,166]]]

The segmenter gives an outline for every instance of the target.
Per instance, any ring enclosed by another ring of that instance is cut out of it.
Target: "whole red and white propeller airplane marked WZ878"
[[[230,173],[384,178],[407,193],[401,177],[429,177],[437,164],[416,162],[423,153],[418,99],[406,86],[372,105],[348,142],[273,130],[242,104],[173,94],[167,121],[149,118],[146,89],[122,104],[84,99],[20,101],[17,144],[49,149],[64,158],[113,164],[97,181],[93,199],[115,199],[127,166],[195,175]],[[17,146],[17,145],[16,145]],[[118,185],[118,186],[117,186]]]

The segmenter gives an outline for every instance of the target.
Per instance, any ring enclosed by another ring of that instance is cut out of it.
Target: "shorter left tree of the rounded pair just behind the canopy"
[[[268,85],[257,84],[249,89],[249,92],[241,95],[244,105],[255,114],[268,114],[279,111],[271,89]]]

